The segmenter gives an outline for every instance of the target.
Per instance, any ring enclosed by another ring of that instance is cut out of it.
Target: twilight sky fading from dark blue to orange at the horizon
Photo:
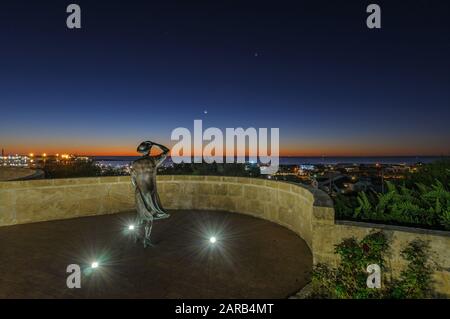
[[[449,2],[2,3],[6,153],[137,155],[194,119],[279,127],[281,155],[450,155]]]

